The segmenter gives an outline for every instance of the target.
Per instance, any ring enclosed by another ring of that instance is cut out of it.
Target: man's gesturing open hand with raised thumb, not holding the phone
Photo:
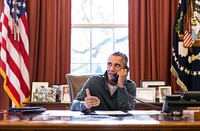
[[[94,107],[94,106],[98,106],[100,104],[99,98],[96,96],[91,96],[89,89],[86,89],[86,94],[87,94],[87,97],[85,97],[84,103],[87,109],[90,109],[91,107]]]

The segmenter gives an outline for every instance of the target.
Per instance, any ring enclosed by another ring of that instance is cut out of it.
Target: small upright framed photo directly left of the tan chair
[[[70,103],[70,90],[68,85],[61,85],[61,102]]]

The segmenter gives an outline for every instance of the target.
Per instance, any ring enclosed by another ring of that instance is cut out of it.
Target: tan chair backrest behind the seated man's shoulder
[[[83,75],[66,74],[66,79],[70,90],[71,102],[75,99],[75,97],[77,96],[78,92],[81,90],[87,79],[92,75],[94,74],[83,74]]]

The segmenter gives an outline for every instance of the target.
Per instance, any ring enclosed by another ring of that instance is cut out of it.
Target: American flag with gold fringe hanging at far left
[[[28,21],[24,0],[4,0],[0,20],[0,74],[16,107],[30,99]]]

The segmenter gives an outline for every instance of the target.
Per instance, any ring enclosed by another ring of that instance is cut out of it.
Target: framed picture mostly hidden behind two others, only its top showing
[[[140,86],[147,88],[147,87],[153,87],[153,86],[164,86],[166,85],[164,80],[141,80]]]

